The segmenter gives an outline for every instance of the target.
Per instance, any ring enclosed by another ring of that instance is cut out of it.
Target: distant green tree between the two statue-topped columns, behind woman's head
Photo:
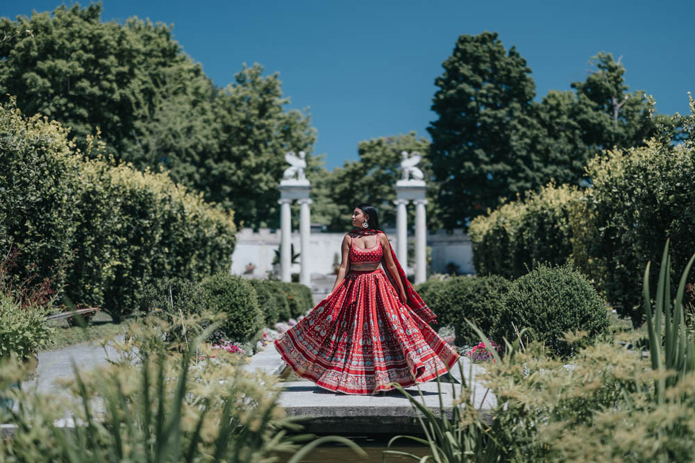
[[[350,229],[352,208],[360,202],[368,202],[377,208],[382,227],[395,226],[394,186],[401,177],[400,161],[403,151],[418,152],[423,156],[418,168],[423,170],[427,180],[427,197],[430,199],[427,204],[428,226],[431,229],[438,228],[434,200],[437,184],[432,181],[430,143],[425,138],[418,138],[414,132],[373,138],[361,141],[357,145],[357,151],[357,161],[345,162],[342,168],[335,168],[323,183],[320,182],[320,188],[327,186],[325,192],[330,195],[339,212],[327,223],[330,229]],[[414,214],[414,211],[409,213]],[[409,223],[414,223],[414,217],[410,218]]]

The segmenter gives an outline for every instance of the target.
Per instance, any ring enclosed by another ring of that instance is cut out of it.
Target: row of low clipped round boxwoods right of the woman
[[[605,300],[569,264],[537,263],[514,280],[492,275],[425,282],[418,291],[437,314],[439,325],[453,325],[459,346],[480,341],[466,318],[500,344],[502,338],[516,338],[515,327],[527,328],[528,336],[561,357],[574,348],[565,333],[586,332],[585,341],[591,343],[609,332]]]

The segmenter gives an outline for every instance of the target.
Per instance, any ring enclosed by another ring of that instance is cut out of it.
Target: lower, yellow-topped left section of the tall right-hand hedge
[[[516,278],[533,261],[572,261],[586,270],[584,236],[590,223],[584,192],[575,186],[549,184],[530,192],[525,200],[503,204],[471,222],[476,273]]]

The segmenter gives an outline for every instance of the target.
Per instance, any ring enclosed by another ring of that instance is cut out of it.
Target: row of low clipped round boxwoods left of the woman
[[[220,332],[231,341],[245,342],[279,320],[303,315],[313,307],[311,290],[299,283],[247,280],[220,272],[202,282],[186,278],[161,278],[138,293],[138,307],[170,323],[172,340],[199,334],[208,314],[222,314]],[[184,327],[182,320],[199,325]]]

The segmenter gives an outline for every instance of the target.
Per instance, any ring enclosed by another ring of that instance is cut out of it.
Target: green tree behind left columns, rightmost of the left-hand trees
[[[277,73],[264,77],[255,64],[235,78],[215,100],[219,149],[202,162],[199,189],[208,200],[234,209],[237,223],[278,225],[285,153],[302,150],[311,158],[316,129],[306,111],[284,111],[289,99],[282,96]]]

